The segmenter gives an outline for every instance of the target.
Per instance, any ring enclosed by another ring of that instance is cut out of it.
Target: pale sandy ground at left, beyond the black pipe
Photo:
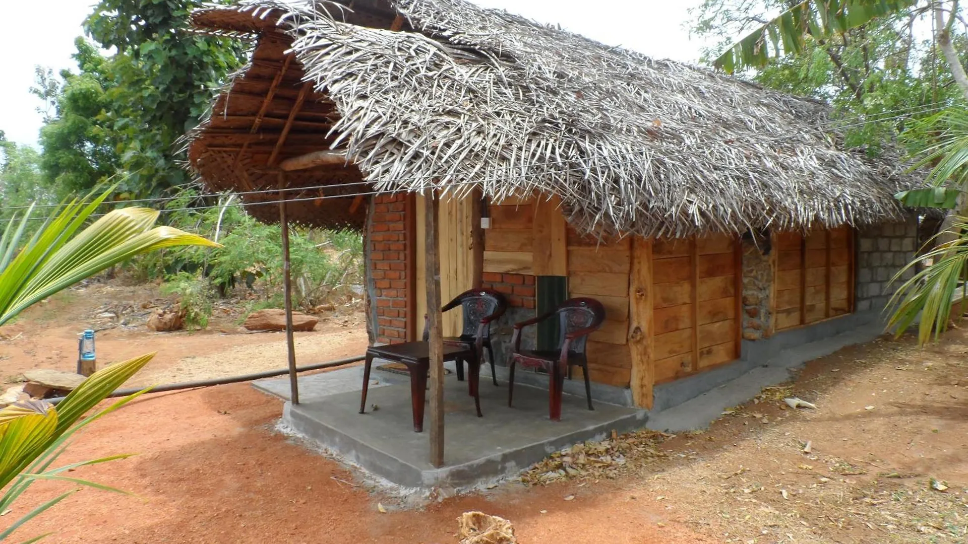
[[[152,385],[206,378],[230,377],[287,366],[286,336],[282,333],[239,332],[237,311],[217,311],[206,330],[156,333],[144,327],[148,310],[142,304],[164,305],[156,287],[95,284],[56,295],[0,327],[0,383],[15,381],[25,370],[55,368],[74,371],[77,333],[87,327],[107,327],[97,333],[99,363],[121,361],[149,351],[154,360],[131,385]],[[99,317],[104,310],[122,314]],[[142,316],[138,316],[141,314]],[[319,316],[315,331],[295,333],[297,364],[320,363],[366,350],[366,330],[355,311]],[[6,340],[4,340],[6,339]]]

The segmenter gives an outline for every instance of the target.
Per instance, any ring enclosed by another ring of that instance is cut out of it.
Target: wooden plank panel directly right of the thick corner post
[[[656,383],[740,356],[738,240],[714,235],[652,243]]]

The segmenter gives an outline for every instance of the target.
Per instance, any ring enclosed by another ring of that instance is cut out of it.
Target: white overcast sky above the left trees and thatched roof
[[[700,0],[638,0],[626,5],[598,5],[587,0],[473,0],[489,8],[505,9],[540,22],[560,24],[567,30],[584,34],[608,45],[622,45],[658,58],[695,62],[700,44],[689,40],[683,25],[689,19],[687,10]],[[0,130],[18,143],[36,145],[42,116],[40,100],[28,89],[34,84],[34,66],[52,68],[54,72],[76,70],[71,54],[74,40],[82,34],[81,21],[88,15],[94,0],[38,0],[32,4],[43,22],[16,20],[0,32]],[[603,9],[598,9],[598,7]],[[17,14],[14,0],[0,0],[0,8]],[[37,10],[37,8],[40,8]]]

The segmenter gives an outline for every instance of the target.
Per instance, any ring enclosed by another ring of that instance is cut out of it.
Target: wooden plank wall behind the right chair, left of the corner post
[[[600,242],[568,228],[568,296],[588,296],[605,306],[605,323],[589,337],[589,376],[628,386],[632,357],[628,343],[630,238]]]

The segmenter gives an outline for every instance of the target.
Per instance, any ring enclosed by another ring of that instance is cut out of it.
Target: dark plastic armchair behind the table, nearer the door
[[[491,323],[498,320],[507,310],[507,301],[504,295],[496,290],[479,288],[469,289],[454,297],[448,302],[441,312],[448,312],[458,306],[464,311],[464,330],[461,336],[445,336],[444,344],[454,344],[467,346],[477,353],[477,360],[483,363],[484,349],[487,349],[488,358],[491,360],[491,378],[494,384],[498,385],[498,376],[495,374],[494,349],[491,348]],[[424,316],[423,339],[427,340],[430,333],[427,329],[427,316]],[[464,360],[457,359],[457,379],[464,379]]]

